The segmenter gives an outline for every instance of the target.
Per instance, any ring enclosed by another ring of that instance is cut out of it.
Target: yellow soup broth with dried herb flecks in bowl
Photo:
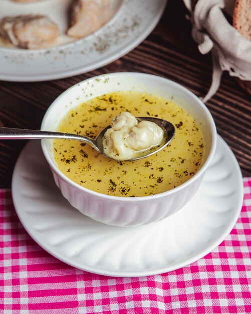
[[[56,139],[54,157],[62,173],[99,193],[139,197],[173,189],[198,171],[203,155],[201,132],[191,115],[162,97],[114,92],[92,98],[71,110],[57,131],[95,138],[122,111],[168,120],[175,126],[175,136],[158,153],[131,162],[110,160],[80,141]]]

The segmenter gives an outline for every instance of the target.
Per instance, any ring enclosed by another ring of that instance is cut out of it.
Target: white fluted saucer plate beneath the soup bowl
[[[74,267],[122,277],[164,273],[203,257],[231,231],[243,200],[238,163],[219,136],[196,195],[150,225],[109,226],[81,214],[56,187],[35,140],[18,159],[12,191],[22,224],[46,251]]]

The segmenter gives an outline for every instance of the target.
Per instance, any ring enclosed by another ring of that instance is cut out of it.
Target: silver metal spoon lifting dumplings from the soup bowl
[[[175,134],[175,128],[172,123],[162,120],[159,118],[151,118],[151,117],[138,117],[138,122],[142,120],[147,120],[156,123],[159,125],[163,131],[164,136],[162,142],[159,145],[150,147],[145,150],[141,150],[135,155],[135,158],[130,159],[130,161],[145,158],[150,156],[159,150],[163,149],[169,142],[172,140]],[[93,148],[95,148],[99,153],[110,158],[104,153],[103,149],[103,138],[106,130],[111,126],[108,125],[105,127],[95,139],[84,135],[71,134],[71,133],[61,133],[61,132],[51,132],[51,131],[40,131],[40,130],[27,130],[27,129],[19,129],[19,128],[9,128],[9,127],[0,127],[0,139],[43,139],[43,138],[61,138],[61,139],[74,139],[83,141]]]

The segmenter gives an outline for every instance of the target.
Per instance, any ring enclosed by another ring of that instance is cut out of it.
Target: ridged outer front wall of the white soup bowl
[[[53,169],[53,177],[62,195],[82,214],[109,225],[138,226],[162,220],[180,210],[197,191],[204,174],[192,184],[170,195],[157,198],[109,199],[81,191],[62,179]]]

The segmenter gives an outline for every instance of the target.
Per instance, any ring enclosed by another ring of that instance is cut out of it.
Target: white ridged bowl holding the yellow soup
[[[150,92],[172,99],[200,125],[204,158],[199,171],[170,191],[144,197],[118,197],[88,190],[68,179],[53,157],[53,140],[43,139],[42,149],[62,195],[81,213],[117,226],[137,226],[164,219],[181,209],[197,191],[216,147],[216,128],[206,106],[192,92],[168,79],[144,73],[111,73],[80,82],[63,92],[47,110],[41,129],[55,131],[63,116],[94,96],[114,91]],[[91,95],[91,96],[90,96]]]

